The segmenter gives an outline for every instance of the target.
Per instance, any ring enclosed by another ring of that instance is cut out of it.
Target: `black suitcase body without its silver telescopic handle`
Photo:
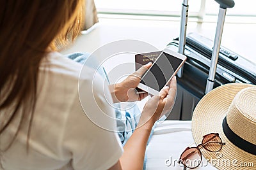
[[[188,59],[184,64],[182,78],[177,77],[177,97],[169,120],[191,120],[196,104],[205,95],[212,44],[211,39],[196,33],[189,33],[186,37],[184,54]],[[168,48],[177,51],[179,38],[174,39]],[[256,85],[256,64],[221,46],[214,88],[234,82]]]

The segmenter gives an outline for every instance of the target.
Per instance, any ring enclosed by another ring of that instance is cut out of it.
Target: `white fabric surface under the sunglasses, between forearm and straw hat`
[[[191,121],[159,122],[148,143],[147,170],[183,169],[177,161],[188,146],[196,146],[191,132]],[[216,167],[207,162],[204,157],[202,163],[196,169],[216,170]]]

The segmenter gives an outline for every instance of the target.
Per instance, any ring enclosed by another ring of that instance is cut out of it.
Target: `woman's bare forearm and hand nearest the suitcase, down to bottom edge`
[[[145,150],[152,126],[161,115],[172,110],[176,89],[176,78],[173,77],[169,87],[162,89],[159,96],[148,100],[143,108],[138,128],[135,129],[124,146],[122,157],[109,170],[143,169]]]

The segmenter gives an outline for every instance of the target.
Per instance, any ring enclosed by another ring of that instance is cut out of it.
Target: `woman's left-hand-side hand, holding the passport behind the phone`
[[[140,83],[141,76],[152,66],[152,63],[140,67],[136,72],[129,75],[121,83],[115,85],[109,85],[109,90],[113,98],[114,103],[126,102],[126,101],[141,101],[148,96],[147,93],[137,94],[136,87]]]

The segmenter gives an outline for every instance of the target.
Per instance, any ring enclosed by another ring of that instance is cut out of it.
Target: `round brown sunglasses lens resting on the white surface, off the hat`
[[[198,167],[201,164],[201,153],[198,148],[189,148],[180,157],[183,165],[189,168]]]

